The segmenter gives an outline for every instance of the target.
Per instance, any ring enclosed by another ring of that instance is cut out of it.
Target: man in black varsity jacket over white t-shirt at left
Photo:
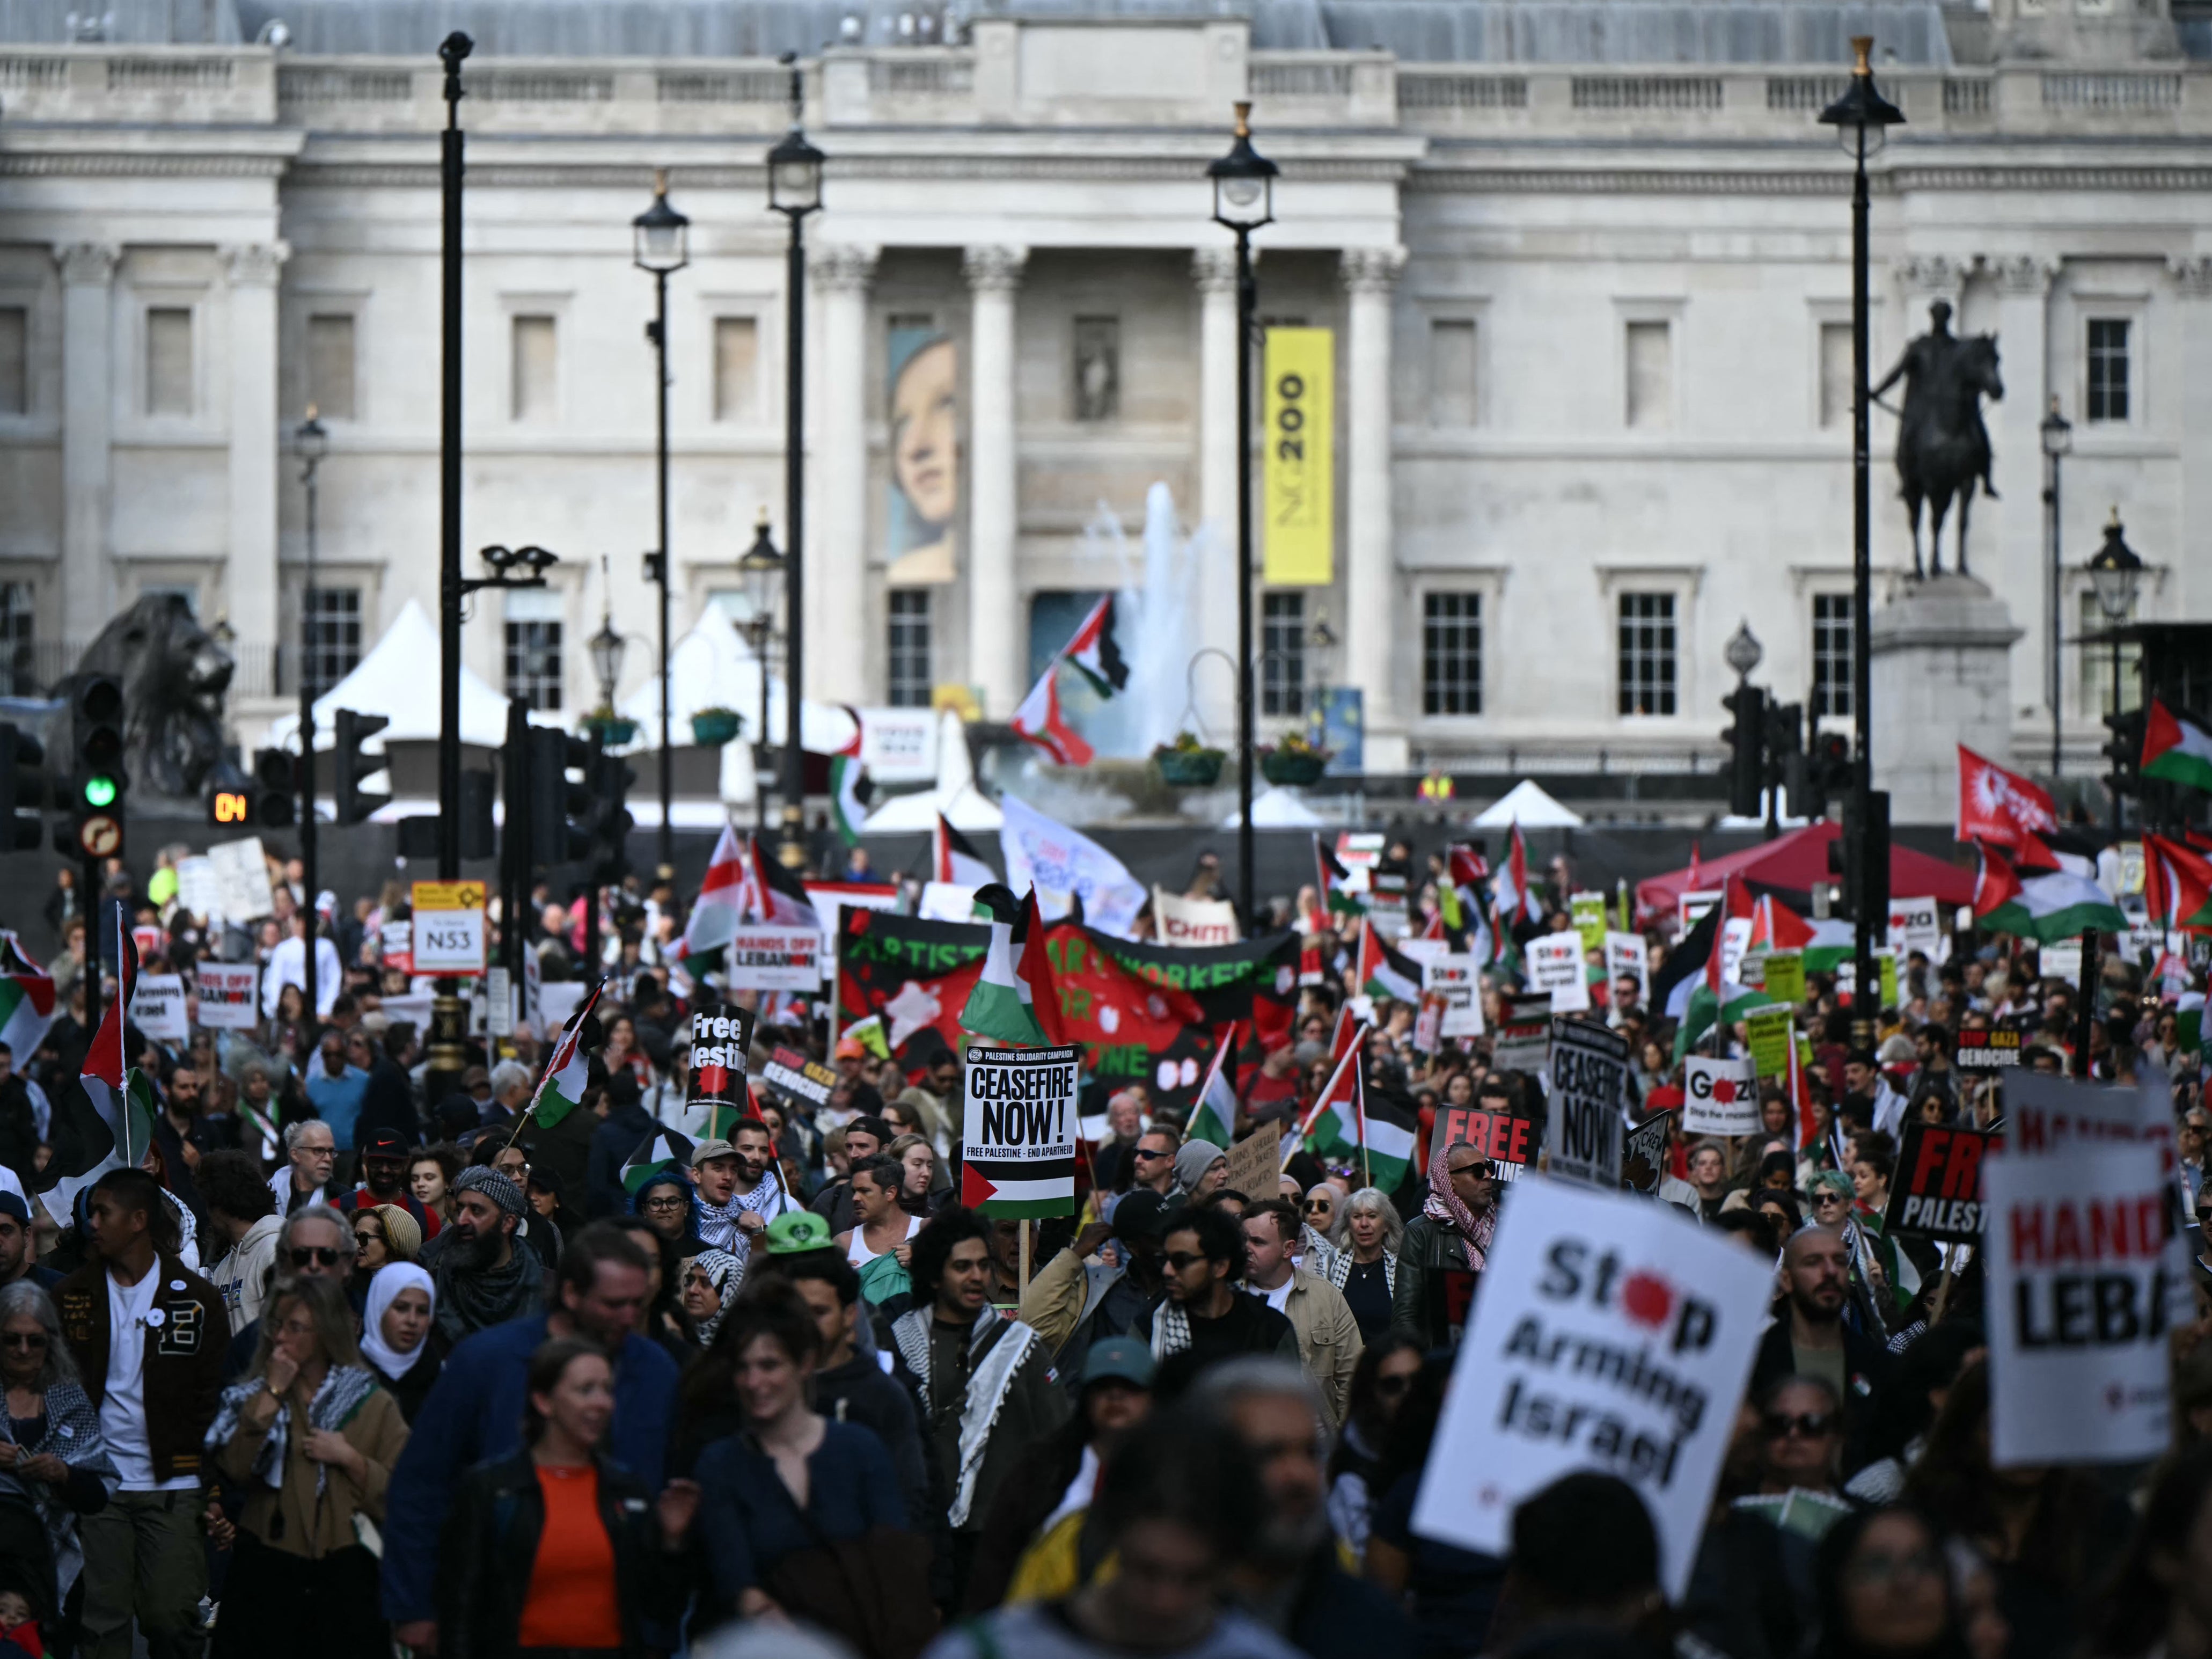
[[[86,1659],[197,1659],[208,1566],[201,1440],[223,1387],[223,1298],[177,1256],[177,1217],[144,1170],[108,1170],[88,1203],[91,1261],[55,1285],[62,1338],[115,1460],[119,1491],[80,1522]]]

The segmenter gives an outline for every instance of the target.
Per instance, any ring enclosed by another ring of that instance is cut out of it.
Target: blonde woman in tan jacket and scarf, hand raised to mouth
[[[254,1363],[223,1389],[206,1440],[246,1493],[217,1659],[292,1655],[307,1632],[323,1659],[389,1655],[369,1540],[405,1444],[407,1422],[361,1358],[338,1281],[276,1290]]]

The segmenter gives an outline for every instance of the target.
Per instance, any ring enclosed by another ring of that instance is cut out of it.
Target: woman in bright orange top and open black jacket
[[[445,1659],[626,1655],[639,1615],[690,1593],[684,1533],[699,1486],[653,1498],[599,1444],[615,1413],[606,1352],[560,1338],[531,1356],[524,1447],[471,1469],[447,1513],[438,1568]],[[529,1562],[529,1573],[515,1566]]]

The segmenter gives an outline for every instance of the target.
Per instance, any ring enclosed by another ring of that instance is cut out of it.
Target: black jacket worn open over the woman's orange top
[[[661,1548],[653,1493],[619,1462],[599,1460],[599,1520],[615,1546],[622,1650],[644,1652],[644,1615],[690,1593],[686,1557]],[[460,1478],[438,1542],[438,1652],[504,1659],[520,1652],[522,1608],[544,1533],[546,1502],[529,1451]]]

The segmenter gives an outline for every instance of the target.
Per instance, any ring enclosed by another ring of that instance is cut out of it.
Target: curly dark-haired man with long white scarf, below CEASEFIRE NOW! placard
[[[1241,1259],[1241,1232],[1237,1243]],[[991,1502],[1073,1407],[1044,1340],[991,1307],[989,1221],[960,1206],[940,1210],[914,1234],[907,1274],[914,1310],[891,1323],[891,1374],[922,1407],[929,1475],[945,1515],[938,1593],[962,1606]],[[1287,1318],[1274,1318],[1290,1329]]]

